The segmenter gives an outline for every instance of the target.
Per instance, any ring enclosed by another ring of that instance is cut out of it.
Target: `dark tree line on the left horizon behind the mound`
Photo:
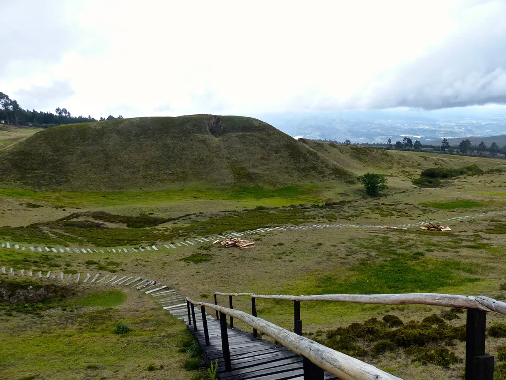
[[[17,100],[9,98],[0,91],[0,122],[3,124],[28,125],[33,127],[48,128],[62,124],[76,124],[97,122],[102,120],[122,119],[119,115],[115,118],[109,115],[107,118],[95,119],[91,116],[72,116],[66,108],[56,108],[55,113],[23,109]]]

